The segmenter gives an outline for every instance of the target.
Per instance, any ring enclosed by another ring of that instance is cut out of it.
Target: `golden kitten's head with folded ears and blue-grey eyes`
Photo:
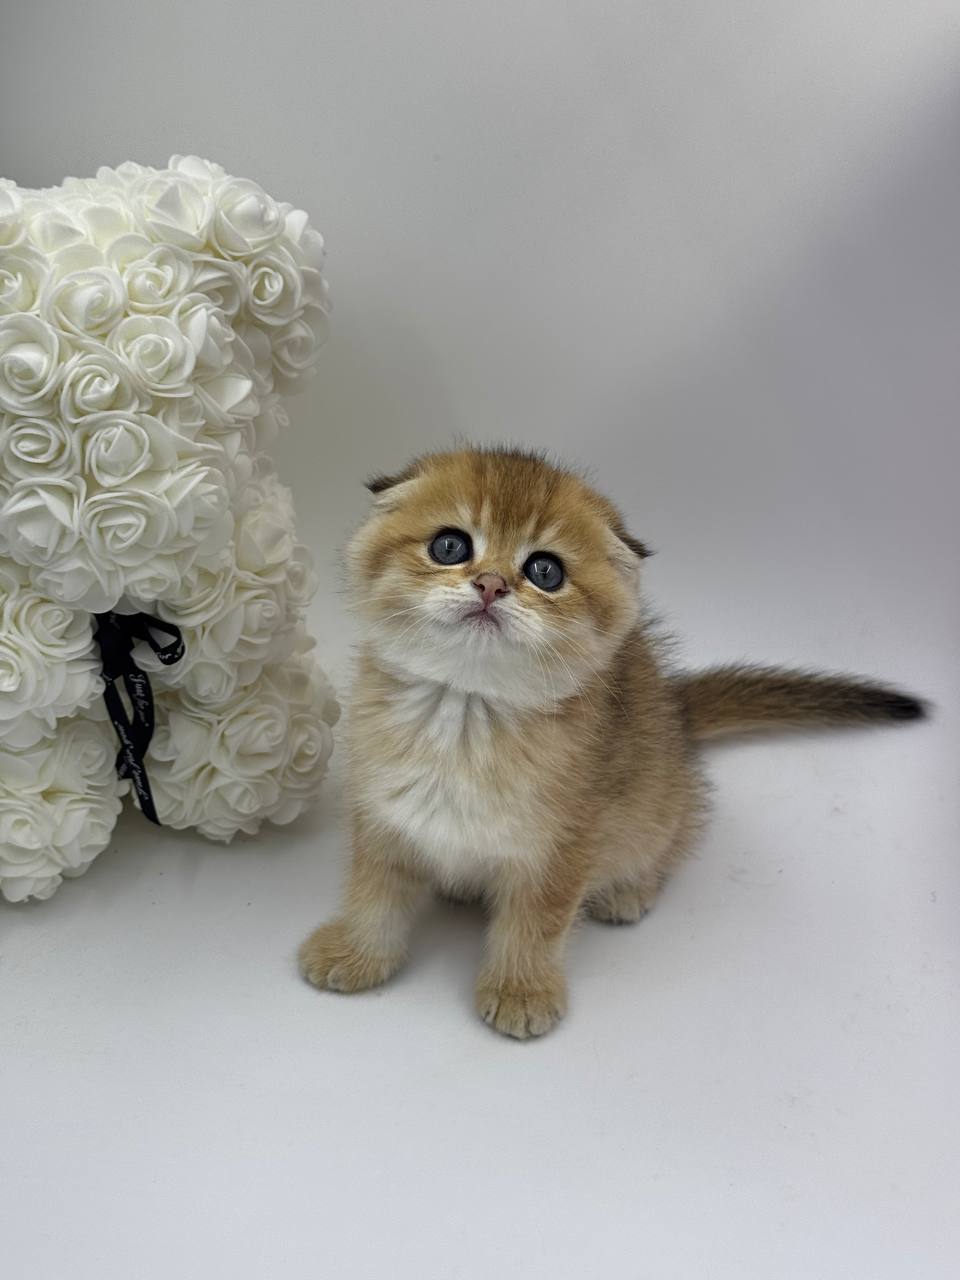
[[[367,644],[398,673],[549,705],[600,672],[636,622],[646,550],[577,476],[465,449],[369,488],[351,585]]]

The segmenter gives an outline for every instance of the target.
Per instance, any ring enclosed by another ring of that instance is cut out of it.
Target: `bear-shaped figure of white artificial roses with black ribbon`
[[[123,796],[215,840],[315,796],[337,704],[266,449],[328,312],[307,218],[215,164],[0,180],[0,892]]]

